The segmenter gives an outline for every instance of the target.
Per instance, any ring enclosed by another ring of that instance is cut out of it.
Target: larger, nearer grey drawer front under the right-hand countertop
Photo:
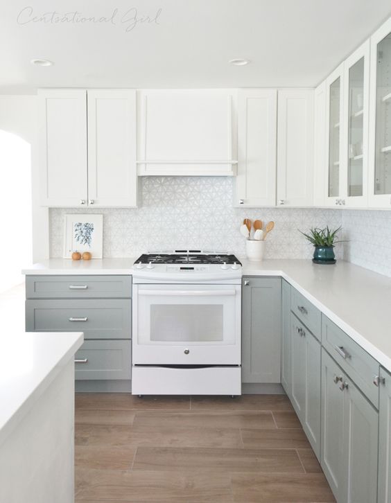
[[[322,315],[322,346],[356,382],[360,391],[375,407],[378,407],[379,387],[374,384],[374,378],[379,376],[379,362],[324,315]]]

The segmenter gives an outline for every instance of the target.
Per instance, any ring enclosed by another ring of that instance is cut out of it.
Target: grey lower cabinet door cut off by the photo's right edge
[[[378,502],[391,503],[391,375],[380,371]]]

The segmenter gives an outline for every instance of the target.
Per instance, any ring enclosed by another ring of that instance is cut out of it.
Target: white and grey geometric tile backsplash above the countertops
[[[103,256],[134,257],[145,251],[201,248],[245,256],[243,218],[275,221],[265,258],[311,258],[313,247],[297,229],[344,228],[337,258],[391,276],[391,212],[335,209],[234,208],[232,177],[142,177],[137,209],[51,208],[50,256],[62,256],[64,215],[103,214]]]

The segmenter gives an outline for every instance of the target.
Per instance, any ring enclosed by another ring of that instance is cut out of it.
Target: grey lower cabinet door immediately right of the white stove
[[[281,279],[243,279],[242,382],[281,382]]]

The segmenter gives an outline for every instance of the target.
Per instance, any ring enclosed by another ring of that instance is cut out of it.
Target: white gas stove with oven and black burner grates
[[[132,393],[241,394],[241,263],[227,253],[141,255],[132,269]]]

